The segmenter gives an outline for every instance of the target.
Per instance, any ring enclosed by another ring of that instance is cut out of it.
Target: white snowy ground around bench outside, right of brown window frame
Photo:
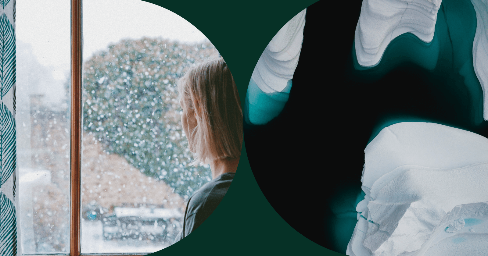
[[[168,244],[149,240],[110,240],[102,236],[102,221],[81,221],[81,253],[154,253]]]

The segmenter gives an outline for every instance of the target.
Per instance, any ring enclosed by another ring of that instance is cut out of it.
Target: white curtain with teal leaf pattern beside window
[[[0,256],[21,256],[15,121],[15,3],[0,0]]]

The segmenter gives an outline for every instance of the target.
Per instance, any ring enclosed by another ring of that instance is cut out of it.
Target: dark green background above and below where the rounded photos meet
[[[268,42],[288,20],[316,2],[146,1],[188,20],[215,45],[232,71],[242,104],[254,66]],[[312,213],[303,212],[313,225]],[[252,174],[245,141],[235,179],[217,210],[195,232],[154,255],[201,254],[343,255],[302,236],[276,213]]]

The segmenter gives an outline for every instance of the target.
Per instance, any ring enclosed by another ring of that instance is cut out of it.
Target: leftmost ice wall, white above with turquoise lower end
[[[285,107],[302,50],[305,12],[286,22],[259,58],[247,89],[246,121],[266,124]]]

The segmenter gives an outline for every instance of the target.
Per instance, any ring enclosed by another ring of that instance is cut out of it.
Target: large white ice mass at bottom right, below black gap
[[[361,181],[366,196],[347,255],[485,255],[487,138],[436,123],[393,124],[367,145]],[[457,247],[465,251],[449,253]]]

